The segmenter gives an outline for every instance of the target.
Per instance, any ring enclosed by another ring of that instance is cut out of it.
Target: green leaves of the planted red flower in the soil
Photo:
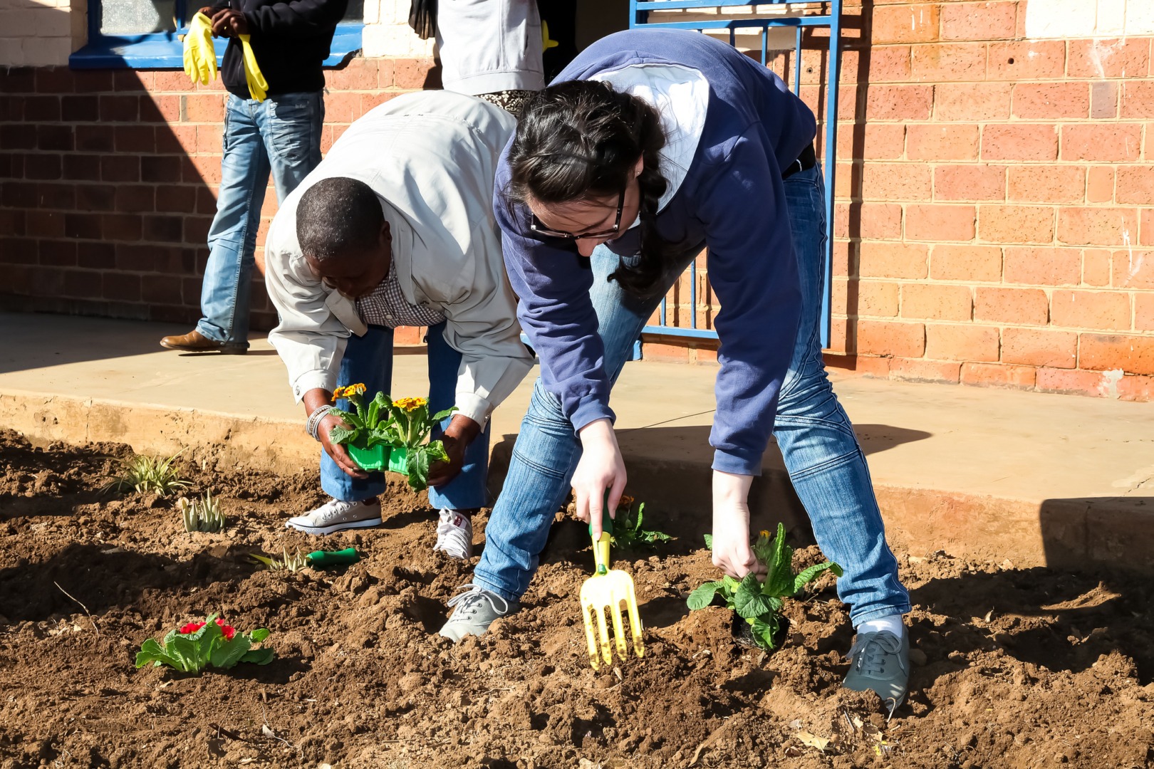
[[[252,633],[235,633],[230,641],[216,624],[218,616],[210,615],[204,620],[204,627],[195,633],[185,634],[173,629],[160,643],[157,643],[156,639],[144,641],[141,650],[136,653],[136,668],[143,668],[151,662],[157,668],[167,665],[173,670],[200,676],[209,665],[228,670],[241,662],[256,665],[272,662],[276,657],[272,649],[253,648],[254,643],[260,643],[269,636],[268,629],[261,627]]]

